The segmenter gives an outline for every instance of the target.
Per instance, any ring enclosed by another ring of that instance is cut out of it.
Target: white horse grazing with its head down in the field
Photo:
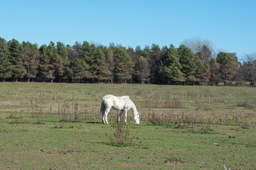
[[[110,109],[114,108],[115,110],[120,111],[118,121],[120,122],[122,113],[124,113],[124,123],[127,124],[127,113],[131,109],[133,113],[134,122],[136,125],[139,125],[139,113],[137,111],[134,103],[129,99],[129,96],[112,96],[107,95],[102,97],[102,102],[100,106],[100,113],[102,113],[102,123],[109,124],[107,122],[107,114],[110,112]]]

